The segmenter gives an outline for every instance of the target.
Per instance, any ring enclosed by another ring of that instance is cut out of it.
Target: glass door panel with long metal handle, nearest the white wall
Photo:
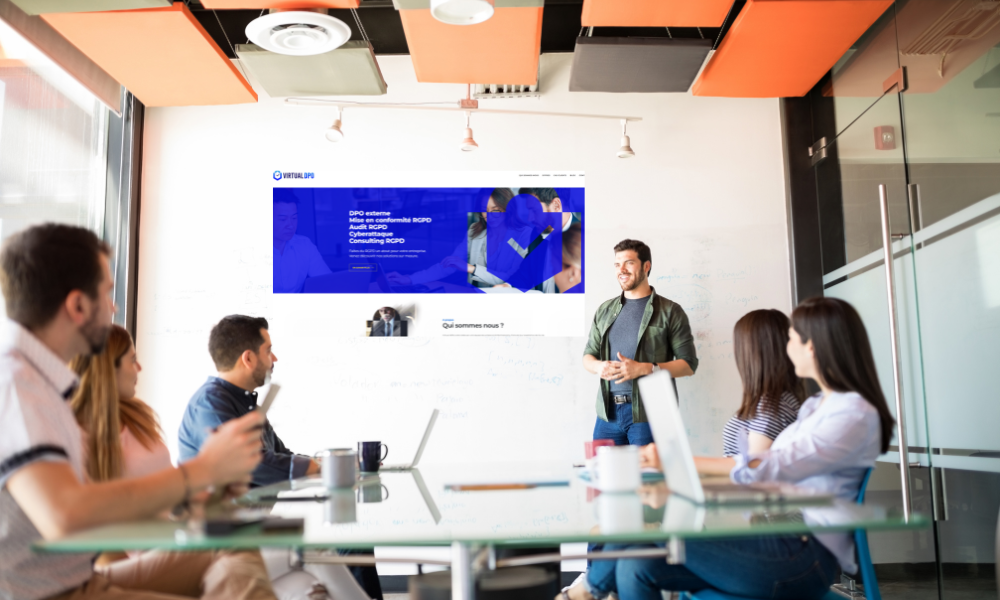
[[[824,295],[846,300],[860,313],[882,392],[906,437],[908,460],[900,460],[897,434],[872,476],[868,498],[899,511],[908,505],[929,514],[931,475],[900,99],[892,90],[857,115],[853,105],[865,98],[834,98],[835,106],[841,100],[837,114],[842,108],[852,118],[827,142],[826,157],[815,165]],[[918,581],[921,596],[937,597],[933,531],[873,533],[870,541],[886,590],[896,582]],[[883,596],[894,597],[886,591]]]

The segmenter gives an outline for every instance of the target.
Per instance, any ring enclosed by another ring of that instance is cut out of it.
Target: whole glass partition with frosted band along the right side
[[[905,91],[894,81],[905,81]],[[913,510],[935,519],[930,531],[871,536],[883,596],[992,600],[1000,2],[897,1],[811,98],[824,293],[858,308],[883,392],[893,404],[898,384],[905,413],[906,494],[899,452],[880,459],[869,493],[900,509],[908,496]]]

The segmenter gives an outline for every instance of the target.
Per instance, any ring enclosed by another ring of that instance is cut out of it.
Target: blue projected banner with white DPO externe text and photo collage
[[[579,188],[276,187],[276,294],[582,294]]]

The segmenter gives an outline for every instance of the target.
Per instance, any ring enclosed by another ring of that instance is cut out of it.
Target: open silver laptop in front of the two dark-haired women
[[[784,483],[703,483],[691,455],[691,444],[677,406],[670,374],[660,371],[639,379],[639,392],[663,474],[672,493],[697,504],[761,504],[766,502],[827,502],[832,494],[814,492]]]

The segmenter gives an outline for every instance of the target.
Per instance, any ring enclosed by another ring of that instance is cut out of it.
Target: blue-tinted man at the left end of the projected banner
[[[299,229],[299,205],[294,198],[274,199],[274,293],[298,294],[307,277],[329,275],[316,244]]]

